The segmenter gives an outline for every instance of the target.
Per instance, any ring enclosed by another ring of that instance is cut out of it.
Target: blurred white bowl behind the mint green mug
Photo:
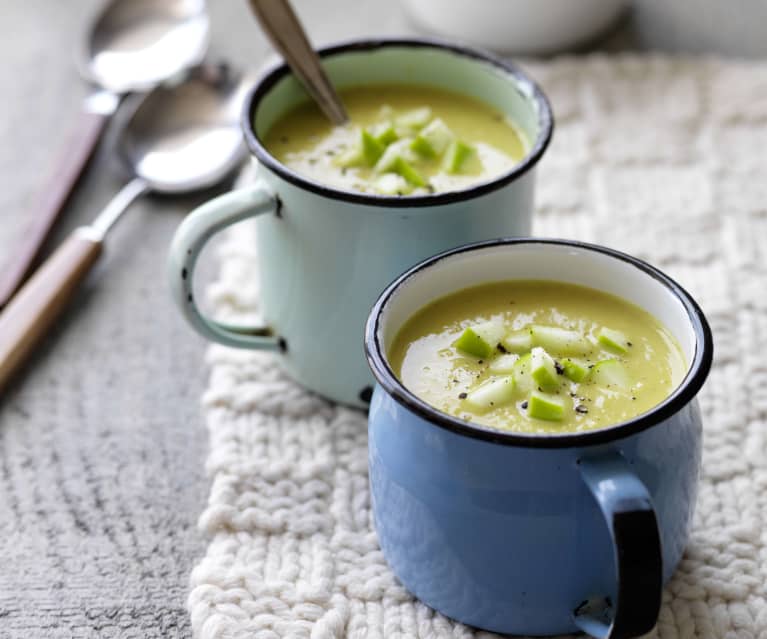
[[[418,26],[504,53],[555,53],[605,31],[625,0],[402,0]]]

